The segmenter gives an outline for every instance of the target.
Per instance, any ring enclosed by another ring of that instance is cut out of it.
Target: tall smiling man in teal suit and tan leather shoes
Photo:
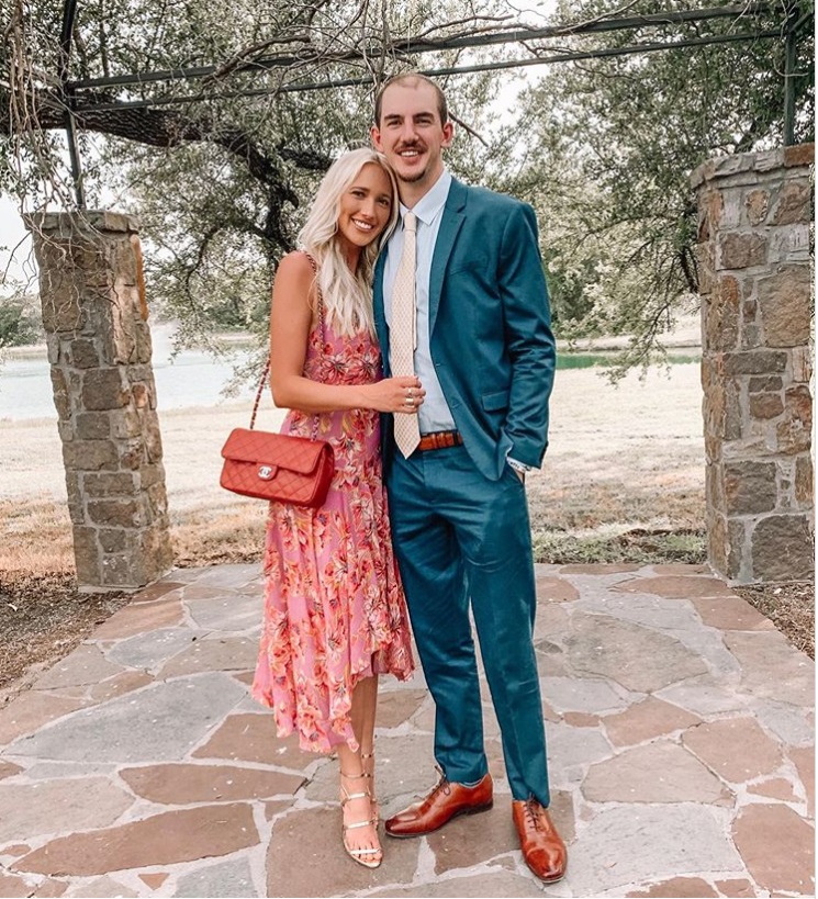
[[[386,832],[417,836],[493,804],[471,606],[523,855],[552,883],[564,875],[567,853],[547,811],[524,486],[525,472],[539,468],[546,451],[556,359],[537,222],[530,206],[467,187],[446,170],[442,150],[453,128],[430,79],[391,79],[376,101],[374,122],[372,141],[401,193],[401,222],[374,281],[388,372],[393,288],[399,268],[404,280],[406,232],[410,246],[416,237],[414,368],[426,391],[421,440],[404,456],[386,418],[384,476],[412,626],[435,699],[442,774],[423,801],[386,821]]]

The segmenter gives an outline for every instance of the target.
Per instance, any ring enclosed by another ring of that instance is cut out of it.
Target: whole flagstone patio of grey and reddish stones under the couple
[[[0,709],[0,896],[815,895],[815,668],[703,566],[539,565],[537,659],[569,844],[522,861],[484,695],[494,808],[343,853],[337,761],[248,698],[256,565],[173,572]],[[388,816],[435,780],[423,675],[384,678]]]

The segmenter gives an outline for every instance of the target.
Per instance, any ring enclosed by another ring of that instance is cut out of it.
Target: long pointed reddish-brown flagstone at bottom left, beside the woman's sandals
[[[202,806],[60,836],[15,862],[12,869],[90,877],[227,855],[258,842],[249,805]]]

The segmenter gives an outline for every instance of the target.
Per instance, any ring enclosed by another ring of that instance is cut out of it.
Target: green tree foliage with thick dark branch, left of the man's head
[[[496,23],[500,5],[492,0],[227,5],[87,0],[78,5],[75,78],[217,67],[205,79],[102,85],[90,95],[102,103],[149,99],[152,109],[89,110],[85,91],[76,113],[88,204],[111,205],[113,198],[116,206],[138,214],[150,300],[181,323],[181,342],[206,340],[214,327],[266,329],[272,272],[295,245],[302,199],[312,195],[339,151],[368,143],[377,86],[415,65],[414,57],[392,46],[393,36],[468,36]],[[47,47],[43,66],[56,69],[53,35],[63,4],[38,0],[27,8],[29,43]],[[381,55],[368,56],[372,47],[381,47]],[[266,58],[288,53],[285,65],[262,68]],[[452,65],[461,56],[440,52],[425,61]],[[247,63],[259,68],[240,70]],[[350,79],[365,83],[287,90]],[[488,134],[496,78],[473,75],[446,82],[456,114]],[[245,90],[255,94],[240,95]],[[168,103],[171,98],[179,102]],[[44,131],[61,125],[61,111],[47,100],[44,94],[31,116]],[[486,146],[464,137],[452,165],[461,175],[480,176]],[[52,171],[37,158],[38,153],[48,157],[47,147],[33,146],[29,168],[21,171],[40,167],[53,188]],[[498,161],[504,151],[501,141]],[[31,194],[23,175],[19,184]],[[61,195],[65,200],[65,190]]]

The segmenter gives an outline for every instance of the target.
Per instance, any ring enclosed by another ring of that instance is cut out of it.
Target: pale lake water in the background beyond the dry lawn
[[[161,328],[154,334],[154,377],[159,411],[216,406],[226,402],[249,400],[254,389],[245,386],[232,397],[222,395],[237,361],[247,358],[237,351],[233,361],[213,359],[203,351],[184,350],[171,359],[170,335]],[[671,356],[669,361],[693,362],[695,351]],[[605,367],[615,361],[610,352],[560,353],[558,369]],[[0,422],[31,418],[53,418],[54,408],[48,360],[44,352],[7,359],[0,364]]]

